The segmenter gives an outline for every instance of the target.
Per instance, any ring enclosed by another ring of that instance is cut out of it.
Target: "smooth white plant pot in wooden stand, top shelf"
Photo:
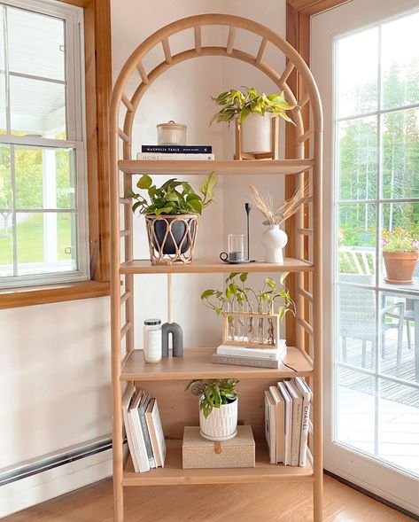
[[[242,151],[252,154],[272,151],[272,114],[247,116],[242,124]]]

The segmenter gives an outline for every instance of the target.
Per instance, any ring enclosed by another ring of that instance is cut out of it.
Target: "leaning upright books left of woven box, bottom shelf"
[[[122,416],[134,470],[164,467],[166,443],[156,399],[128,383],[122,397]]]

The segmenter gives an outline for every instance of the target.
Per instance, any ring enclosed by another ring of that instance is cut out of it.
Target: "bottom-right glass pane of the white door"
[[[379,381],[378,454],[383,460],[419,475],[419,390]]]

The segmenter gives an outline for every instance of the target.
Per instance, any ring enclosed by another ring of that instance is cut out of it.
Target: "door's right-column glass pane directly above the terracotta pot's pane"
[[[383,197],[419,198],[419,109],[383,114],[382,140]]]

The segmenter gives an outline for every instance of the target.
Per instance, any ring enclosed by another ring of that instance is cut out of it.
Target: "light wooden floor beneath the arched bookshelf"
[[[311,522],[311,484],[128,487],[126,522]],[[330,477],[324,522],[411,522]],[[307,499],[308,497],[308,499]],[[112,482],[102,480],[2,519],[4,522],[113,522]]]

